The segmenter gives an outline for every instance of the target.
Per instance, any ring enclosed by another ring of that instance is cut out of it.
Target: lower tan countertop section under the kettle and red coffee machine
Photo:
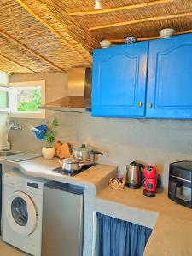
[[[167,189],[154,198],[148,198],[143,196],[143,188],[114,190],[108,186],[96,197],[125,207],[159,213],[144,256],[192,255],[192,209],[171,201],[167,197]]]

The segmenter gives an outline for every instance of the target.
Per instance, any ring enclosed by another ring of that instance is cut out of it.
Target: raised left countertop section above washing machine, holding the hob
[[[41,177],[47,180],[84,186],[90,195],[96,195],[96,193],[108,186],[110,177],[117,175],[116,166],[96,165],[74,177],[70,177],[53,171],[61,166],[57,158],[45,160],[43,157],[38,157],[32,160],[14,162],[7,160],[5,157],[0,157],[0,164],[19,168],[21,172],[31,177]]]

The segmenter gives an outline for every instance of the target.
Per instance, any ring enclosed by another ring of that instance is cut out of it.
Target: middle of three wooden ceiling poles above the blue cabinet
[[[177,14],[177,15],[154,16],[154,17],[143,18],[143,19],[138,19],[138,20],[128,20],[128,21],[124,21],[124,22],[111,23],[111,24],[102,25],[102,26],[93,26],[93,27],[90,27],[89,30],[96,31],[99,29],[105,29],[105,28],[110,28],[110,27],[114,27],[114,26],[126,26],[126,25],[133,25],[133,24],[138,24],[138,23],[143,23],[143,22],[149,22],[149,21],[169,20],[169,19],[183,18],[183,17],[189,17],[189,16],[192,16],[192,12]]]

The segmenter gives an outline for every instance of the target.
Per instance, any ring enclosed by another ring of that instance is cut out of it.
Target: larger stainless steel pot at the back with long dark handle
[[[95,155],[102,152],[95,151],[92,148],[86,147],[84,144],[80,148],[73,148],[73,157],[77,160],[84,161],[84,165],[92,165],[95,163]]]

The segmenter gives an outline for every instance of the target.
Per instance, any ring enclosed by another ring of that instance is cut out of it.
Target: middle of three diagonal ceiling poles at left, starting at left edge
[[[26,44],[21,43],[19,40],[17,40],[16,38],[12,37],[11,35],[9,35],[8,32],[4,32],[2,29],[0,29],[0,34],[2,34],[5,38],[9,38],[9,40],[15,44],[18,44],[19,46],[21,46],[22,48],[26,49],[28,52],[30,52],[32,55],[35,55],[36,57],[38,57],[38,59],[40,59],[41,61],[47,62],[51,67],[54,67],[60,71],[66,72],[63,68],[59,67],[58,65],[56,65],[55,63],[53,63],[52,61],[49,61],[48,59],[46,59],[44,56],[38,54],[36,51],[34,51],[33,49],[29,48],[28,46],[26,46]]]

